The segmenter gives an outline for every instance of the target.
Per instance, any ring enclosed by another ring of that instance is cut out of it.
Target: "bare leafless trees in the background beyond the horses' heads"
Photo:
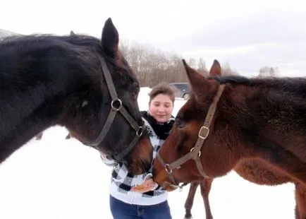
[[[121,41],[120,49],[142,87],[152,87],[161,82],[188,82],[182,64],[183,57],[178,54],[164,52],[160,49],[154,49],[138,42],[127,40]],[[203,76],[208,75],[207,66],[203,58],[186,61],[192,68],[200,71]],[[231,69],[228,63],[221,64],[221,69],[223,75],[239,75],[237,71]],[[277,67],[262,66],[257,76],[277,76],[278,73],[279,69]]]

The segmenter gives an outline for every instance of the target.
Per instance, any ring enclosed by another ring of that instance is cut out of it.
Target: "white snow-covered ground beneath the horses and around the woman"
[[[139,97],[147,109],[147,95]],[[174,113],[184,100],[176,100]],[[42,141],[30,141],[0,165],[0,218],[108,219],[111,168],[99,153],[75,139],[65,140],[59,126],[44,132]],[[169,193],[173,219],[184,216],[188,187]],[[294,218],[294,187],[257,186],[231,172],[216,179],[210,203],[214,219]],[[204,206],[197,191],[192,211],[204,219]]]

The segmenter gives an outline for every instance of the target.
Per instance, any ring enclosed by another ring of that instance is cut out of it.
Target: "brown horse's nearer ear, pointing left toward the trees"
[[[195,97],[197,97],[198,95],[200,95],[200,93],[202,93],[204,89],[206,89],[205,86],[203,86],[205,78],[195,69],[192,69],[190,66],[188,66],[185,59],[183,59],[182,61],[192,88],[192,92],[195,94]]]

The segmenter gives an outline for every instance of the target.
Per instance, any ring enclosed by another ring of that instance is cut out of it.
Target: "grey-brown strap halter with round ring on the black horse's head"
[[[122,101],[119,99],[116,93],[114,82],[111,79],[111,73],[109,72],[109,68],[107,68],[106,66],[106,62],[104,58],[101,58],[100,61],[101,61],[102,71],[104,73],[106,85],[107,85],[107,88],[109,89],[109,94],[111,95],[111,111],[109,112],[109,115],[106,119],[104,127],[102,131],[100,132],[99,136],[97,137],[97,139],[92,143],[87,143],[86,145],[97,148],[97,146],[99,146],[99,144],[102,143],[106,134],[109,132],[109,129],[111,128],[111,124],[114,122],[117,112],[120,112],[123,115],[123,117],[126,119],[126,121],[128,121],[130,126],[132,126],[133,129],[136,131],[135,138],[133,138],[133,141],[130,142],[128,147],[126,147],[118,155],[113,156],[115,160],[121,160],[130,152],[130,150],[134,148],[140,136],[142,136],[142,133],[145,130],[145,127],[138,125],[135,119],[133,118],[133,116],[131,116],[128,110],[126,110],[126,107],[123,106]]]

